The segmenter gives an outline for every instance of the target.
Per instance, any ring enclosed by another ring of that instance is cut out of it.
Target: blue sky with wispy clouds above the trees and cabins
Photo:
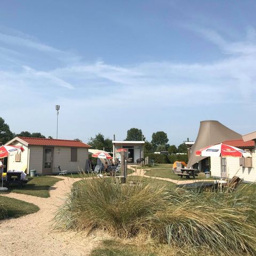
[[[0,0],[0,116],[13,132],[196,139],[255,131],[256,2]]]

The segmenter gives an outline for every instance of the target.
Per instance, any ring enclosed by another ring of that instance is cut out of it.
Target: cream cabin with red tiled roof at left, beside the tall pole
[[[76,140],[15,137],[5,145],[22,146],[23,153],[9,156],[7,170],[36,170],[37,174],[58,173],[61,170],[77,172],[85,169],[89,145]]]

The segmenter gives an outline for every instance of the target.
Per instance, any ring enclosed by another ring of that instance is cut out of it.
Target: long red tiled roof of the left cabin
[[[18,137],[18,138],[27,142],[28,145],[75,147],[75,148],[91,147],[81,141],[76,141],[76,140],[59,140],[59,139],[44,139],[44,138],[30,138],[30,137]]]

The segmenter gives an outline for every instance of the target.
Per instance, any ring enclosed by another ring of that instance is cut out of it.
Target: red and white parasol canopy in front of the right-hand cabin
[[[196,150],[196,156],[252,157],[243,149],[222,143]]]

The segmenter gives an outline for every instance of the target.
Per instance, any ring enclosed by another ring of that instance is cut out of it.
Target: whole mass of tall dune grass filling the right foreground
[[[153,241],[197,252],[256,255],[255,193],[196,193],[143,182],[83,179],[55,217],[55,227],[105,229],[121,237],[142,234]]]

